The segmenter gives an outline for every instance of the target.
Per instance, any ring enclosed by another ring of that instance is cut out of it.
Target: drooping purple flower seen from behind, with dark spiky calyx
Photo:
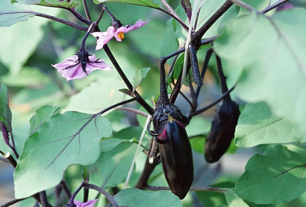
[[[100,58],[96,59],[95,55],[89,55],[86,49],[80,49],[76,55],[52,66],[67,81],[84,78],[95,70],[110,71],[112,68],[106,65]]]

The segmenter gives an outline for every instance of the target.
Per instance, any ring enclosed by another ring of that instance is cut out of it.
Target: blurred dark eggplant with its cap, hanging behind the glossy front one
[[[228,96],[215,114],[204,153],[209,163],[217,162],[230,147],[240,115],[238,104]]]

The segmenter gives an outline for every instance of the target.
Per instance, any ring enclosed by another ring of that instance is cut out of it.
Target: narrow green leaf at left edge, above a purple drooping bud
[[[9,97],[5,83],[1,83],[0,85],[0,121],[12,134],[12,112],[9,109]]]

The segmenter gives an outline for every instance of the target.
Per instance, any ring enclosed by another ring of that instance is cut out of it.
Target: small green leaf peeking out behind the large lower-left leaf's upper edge
[[[29,135],[31,136],[36,132],[39,126],[46,122],[51,116],[59,113],[59,107],[55,106],[42,106],[35,111],[35,114],[30,119]]]

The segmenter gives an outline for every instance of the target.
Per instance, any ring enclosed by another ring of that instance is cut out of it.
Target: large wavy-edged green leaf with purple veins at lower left
[[[99,114],[55,114],[28,137],[14,171],[15,198],[56,186],[69,165],[90,165],[100,154],[100,139],[112,134]]]

